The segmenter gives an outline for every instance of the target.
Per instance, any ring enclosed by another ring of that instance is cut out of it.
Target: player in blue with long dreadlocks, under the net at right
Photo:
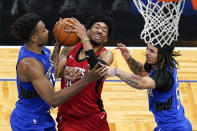
[[[154,131],[192,131],[180,101],[178,63],[173,57],[180,54],[173,51],[174,47],[174,44],[163,48],[148,44],[146,62],[142,64],[130,55],[125,45],[119,43],[118,48],[134,74],[107,67],[105,77],[117,76],[133,88],[148,90],[149,110],[157,123]]]

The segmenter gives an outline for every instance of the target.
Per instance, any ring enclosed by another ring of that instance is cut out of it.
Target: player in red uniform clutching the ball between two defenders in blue
[[[75,24],[65,24],[73,29],[65,31],[75,32],[81,42],[74,47],[64,47],[61,52],[56,76],[62,78],[62,89],[83,78],[88,65],[93,68],[97,62],[105,65],[113,62],[113,54],[104,48],[112,33],[112,19],[99,13],[89,18],[86,28],[78,20],[72,18],[72,21]],[[109,131],[101,100],[103,82],[101,78],[89,83],[72,99],[58,106],[59,131]]]

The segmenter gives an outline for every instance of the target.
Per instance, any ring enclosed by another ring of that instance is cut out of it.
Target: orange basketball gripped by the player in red
[[[54,26],[54,36],[57,42],[64,46],[74,46],[76,45],[80,39],[79,37],[73,33],[73,32],[65,32],[65,29],[72,29],[70,25],[65,24],[65,22],[68,22],[72,24],[71,21],[69,21],[69,18],[60,19]]]

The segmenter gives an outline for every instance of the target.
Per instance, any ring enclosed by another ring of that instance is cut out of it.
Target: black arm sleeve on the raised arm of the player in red
[[[97,58],[93,49],[85,51],[85,54],[88,64],[90,65],[90,69],[92,69],[99,62],[99,59]]]

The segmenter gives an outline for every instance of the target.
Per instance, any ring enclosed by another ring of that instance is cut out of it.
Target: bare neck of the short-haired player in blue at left
[[[26,49],[37,54],[42,54],[42,47],[35,42],[26,42]]]

